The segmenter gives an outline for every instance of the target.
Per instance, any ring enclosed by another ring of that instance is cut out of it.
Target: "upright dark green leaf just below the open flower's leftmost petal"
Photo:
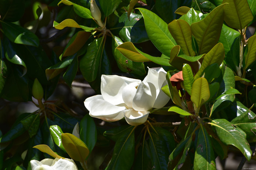
[[[80,122],[80,139],[91,152],[97,141],[97,129],[93,118],[86,114]]]

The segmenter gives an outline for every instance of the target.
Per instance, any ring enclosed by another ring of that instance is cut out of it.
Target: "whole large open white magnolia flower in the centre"
[[[101,95],[84,101],[92,117],[114,122],[125,117],[127,123],[136,126],[146,122],[149,110],[161,108],[169,97],[161,90],[166,85],[163,68],[148,68],[143,81],[117,75],[101,76]]]

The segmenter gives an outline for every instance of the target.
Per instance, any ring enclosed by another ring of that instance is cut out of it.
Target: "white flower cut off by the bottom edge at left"
[[[42,161],[31,160],[32,170],[78,170],[73,159],[43,159]]]

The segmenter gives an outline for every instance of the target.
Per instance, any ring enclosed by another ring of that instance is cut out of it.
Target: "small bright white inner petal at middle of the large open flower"
[[[132,108],[132,100],[136,94],[137,89],[134,86],[127,85],[124,87],[122,97],[126,106]]]

